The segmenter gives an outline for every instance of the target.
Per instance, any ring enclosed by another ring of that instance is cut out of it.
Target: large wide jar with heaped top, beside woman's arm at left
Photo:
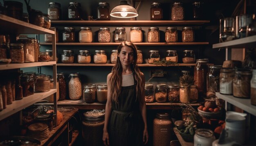
[[[93,110],[83,114],[82,136],[85,146],[103,146],[102,135],[105,110]]]

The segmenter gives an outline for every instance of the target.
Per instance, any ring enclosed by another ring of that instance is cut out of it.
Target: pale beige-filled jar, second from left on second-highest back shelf
[[[92,42],[92,28],[80,27],[79,42]]]

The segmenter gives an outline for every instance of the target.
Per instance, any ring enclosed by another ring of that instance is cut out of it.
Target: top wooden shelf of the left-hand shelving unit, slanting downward
[[[49,29],[2,14],[0,14],[0,32],[7,34],[54,34],[54,31]]]

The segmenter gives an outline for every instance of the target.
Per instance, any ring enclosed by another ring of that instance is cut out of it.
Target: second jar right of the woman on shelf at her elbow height
[[[155,100],[157,102],[166,102],[167,101],[166,84],[156,84],[155,85]]]

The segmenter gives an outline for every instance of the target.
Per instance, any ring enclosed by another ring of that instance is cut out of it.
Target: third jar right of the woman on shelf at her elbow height
[[[180,101],[180,87],[178,85],[168,85],[167,93],[169,102]]]

